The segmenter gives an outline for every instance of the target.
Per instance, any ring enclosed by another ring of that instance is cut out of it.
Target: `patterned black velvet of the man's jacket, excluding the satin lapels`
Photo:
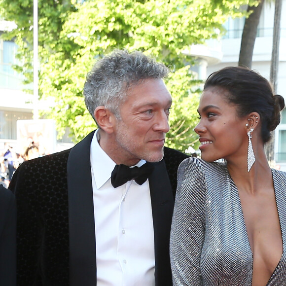
[[[70,150],[23,163],[9,188],[18,216],[17,285],[69,285],[67,160]],[[174,194],[187,155],[165,148]]]

